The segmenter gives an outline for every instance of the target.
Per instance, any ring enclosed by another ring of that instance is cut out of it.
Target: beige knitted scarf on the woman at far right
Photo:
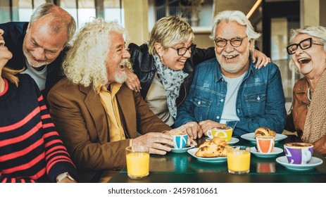
[[[326,135],[326,70],[322,73],[304,124],[303,139],[313,143]]]

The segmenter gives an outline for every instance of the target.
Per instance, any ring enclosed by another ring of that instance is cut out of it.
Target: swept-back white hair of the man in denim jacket
[[[222,21],[236,21],[239,23],[239,25],[246,26],[246,35],[248,36],[248,39],[252,40],[253,43],[251,51],[255,49],[255,41],[261,36],[261,34],[253,30],[253,26],[251,25],[250,21],[241,11],[222,11],[218,13],[218,15],[215,15],[210,36],[211,39],[215,39],[216,26],[218,26],[218,24]]]

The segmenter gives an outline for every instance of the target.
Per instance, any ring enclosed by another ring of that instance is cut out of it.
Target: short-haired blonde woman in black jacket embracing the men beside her
[[[177,107],[189,92],[194,66],[215,57],[213,47],[199,49],[193,42],[190,25],[180,16],[167,16],[155,23],[149,42],[128,46],[137,75],[128,73],[128,87],[141,91],[153,113],[169,126],[173,126]],[[259,51],[254,56],[259,68],[270,61]],[[193,131],[191,136],[196,139],[201,133]]]

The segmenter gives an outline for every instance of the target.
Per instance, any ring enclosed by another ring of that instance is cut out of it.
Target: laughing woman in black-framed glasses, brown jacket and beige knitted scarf
[[[294,84],[285,129],[297,132],[303,141],[314,144],[315,151],[326,155],[326,28],[291,30],[290,42],[290,68],[304,77]]]

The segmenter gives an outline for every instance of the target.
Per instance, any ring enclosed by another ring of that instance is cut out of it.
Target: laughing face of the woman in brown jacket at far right
[[[311,36],[308,34],[298,34],[293,43],[299,43],[303,39],[310,38]],[[318,42],[318,39],[315,37],[311,37],[313,40]],[[321,43],[321,42],[319,42]],[[296,65],[296,68],[299,69],[306,77],[313,78],[317,75],[320,75],[326,67],[326,51],[324,46],[318,44],[312,44],[308,49],[301,49],[298,47],[296,52],[291,55],[292,61]]]

